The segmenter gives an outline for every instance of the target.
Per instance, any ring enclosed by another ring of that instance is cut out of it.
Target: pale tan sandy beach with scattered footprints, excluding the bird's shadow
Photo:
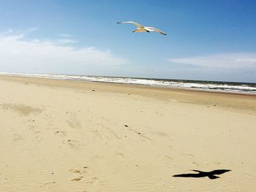
[[[0,91],[0,191],[256,191],[256,96],[7,76]],[[191,169],[231,171],[173,177]]]

